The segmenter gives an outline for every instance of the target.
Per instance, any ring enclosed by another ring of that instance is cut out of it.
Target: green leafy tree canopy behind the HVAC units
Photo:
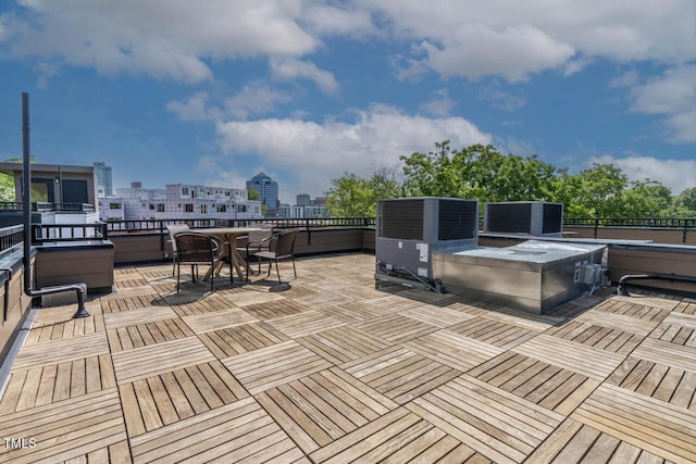
[[[326,192],[334,216],[374,215],[376,200],[396,197],[448,197],[496,201],[563,203],[568,217],[696,217],[696,188],[672,196],[651,179],[630,181],[613,164],[593,164],[577,174],[537,155],[502,154],[492,146],[401,155],[396,170],[377,168],[368,178],[344,173]]]

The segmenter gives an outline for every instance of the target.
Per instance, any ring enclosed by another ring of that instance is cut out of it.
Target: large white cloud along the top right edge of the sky
[[[693,0],[358,2],[393,36],[420,45],[402,59],[406,74],[424,65],[443,76],[517,81],[549,68],[573,74],[594,58],[663,63],[696,58]]]

